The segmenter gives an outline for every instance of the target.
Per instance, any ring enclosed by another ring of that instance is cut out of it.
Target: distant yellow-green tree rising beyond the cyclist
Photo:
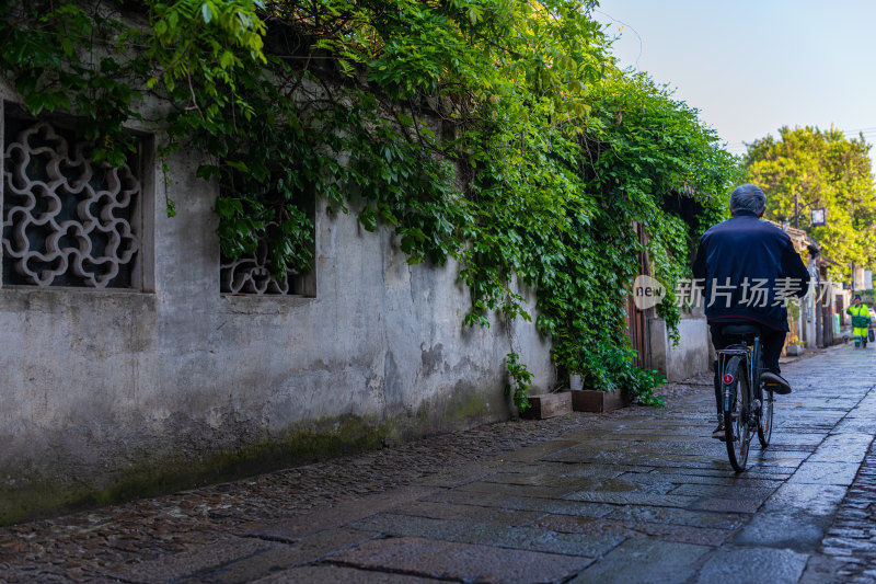
[[[823,255],[837,262],[834,278],[848,280],[851,263],[876,265],[876,191],[871,146],[837,129],[782,127],[748,147],[748,180],[766,193],[768,219],[795,222],[819,241]],[[827,209],[827,225],[814,227],[811,208]]]

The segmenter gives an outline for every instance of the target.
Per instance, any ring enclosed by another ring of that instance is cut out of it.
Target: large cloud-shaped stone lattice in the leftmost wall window
[[[103,288],[139,251],[131,221],[139,219],[140,182],[127,165],[85,159],[84,148],[76,144],[71,157],[67,139],[46,122],[5,148],[3,254],[28,284],[50,286],[66,275]]]

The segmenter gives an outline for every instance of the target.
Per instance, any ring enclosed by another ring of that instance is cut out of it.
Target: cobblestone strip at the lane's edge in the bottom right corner
[[[843,581],[876,582],[876,442],[871,444],[820,551],[841,562],[837,575]]]

